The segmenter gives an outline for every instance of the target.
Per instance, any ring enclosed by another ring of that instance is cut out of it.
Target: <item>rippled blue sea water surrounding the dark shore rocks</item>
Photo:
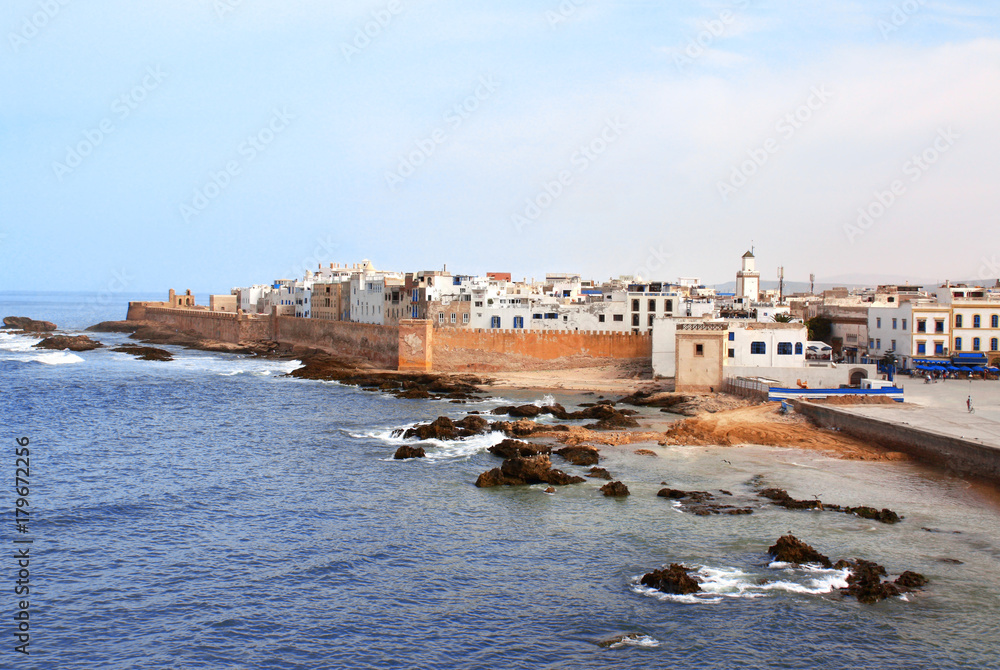
[[[72,330],[123,318],[130,297],[81,309],[79,294],[0,293],[0,316]],[[174,361],[150,362],[36,341],[0,334],[0,476],[13,483],[15,438],[28,437],[34,541],[26,657],[13,651],[10,558],[23,536],[4,514],[0,667],[997,667],[1000,508],[961,479],[795,449],[650,444],[602,447],[624,500],[603,497],[601,480],[478,489],[499,436],[394,461],[391,429],[542,393],[400,400],[284,376],[293,361],[166,347]],[[666,482],[750,499],[757,475],[906,518],[766,506],[699,517],[655,495]],[[769,565],[789,531],[931,583],[874,606],[841,598],[840,571]],[[708,592],[638,585],[671,562],[699,568]],[[628,633],[638,639],[598,645]]]

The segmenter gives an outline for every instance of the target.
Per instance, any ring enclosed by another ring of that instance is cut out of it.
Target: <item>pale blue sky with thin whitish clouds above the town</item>
[[[0,291],[1000,276],[995,2],[5,0]]]

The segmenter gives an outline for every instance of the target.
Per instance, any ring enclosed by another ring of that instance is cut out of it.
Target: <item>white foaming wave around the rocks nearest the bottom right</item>
[[[701,591],[689,594],[664,593],[640,583],[642,576],[630,580],[633,592],[665,602],[684,604],[720,603],[725,598],[764,598],[772,593],[797,593],[822,595],[847,586],[847,569],[821,568],[813,566],[789,566],[772,563],[768,566],[780,569],[782,576],[773,579],[766,573],[747,572],[740,568],[713,568],[702,566],[695,575],[701,583]]]

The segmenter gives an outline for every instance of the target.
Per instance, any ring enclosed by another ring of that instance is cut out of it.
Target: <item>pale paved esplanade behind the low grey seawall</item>
[[[973,440],[1000,449],[1000,381],[948,380],[925,384],[901,377],[906,404],[839,406],[851,414]],[[970,414],[965,401],[972,395]]]

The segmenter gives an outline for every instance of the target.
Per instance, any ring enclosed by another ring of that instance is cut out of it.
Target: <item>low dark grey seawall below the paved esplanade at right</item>
[[[797,412],[824,428],[836,428],[858,439],[876,442],[955,474],[1000,484],[1000,448],[996,446],[801,400],[793,404]]]

